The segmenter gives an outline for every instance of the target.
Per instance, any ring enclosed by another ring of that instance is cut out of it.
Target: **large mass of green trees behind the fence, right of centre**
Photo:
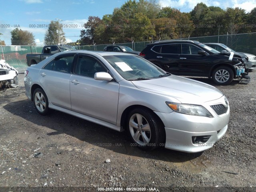
[[[82,44],[112,44],[153,39],[175,39],[256,32],[242,24],[256,24],[256,8],[250,14],[240,8],[223,10],[198,3],[190,13],[162,7],[158,0],[127,0],[112,14],[90,16],[81,31]]]

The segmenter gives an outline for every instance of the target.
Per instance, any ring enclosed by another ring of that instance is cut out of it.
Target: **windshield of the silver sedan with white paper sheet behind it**
[[[139,56],[109,55],[103,57],[126,80],[147,80],[169,76],[169,74]]]

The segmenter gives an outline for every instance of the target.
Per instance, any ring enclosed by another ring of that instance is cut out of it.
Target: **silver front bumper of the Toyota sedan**
[[[214,104],[225,104],[224,96],[218,100],[204,103],[204,107],[213,118],[191,116],[177,112],[155,112],[163,121],[166,132],[165,148],[183,152],[201,152],[211,148],[220,140],[228,129],[230,108],[226,113],[217,115],[210,107]],[[200,140],[202,138],[202,140]]]

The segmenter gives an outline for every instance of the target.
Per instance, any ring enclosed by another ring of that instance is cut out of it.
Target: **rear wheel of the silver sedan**
[[[45,92],[41,88],[36,88],[33,93],[33,102],[36,108],[36,111],[40,115],[47,115],[50,112],[48,107],[48,98]]]

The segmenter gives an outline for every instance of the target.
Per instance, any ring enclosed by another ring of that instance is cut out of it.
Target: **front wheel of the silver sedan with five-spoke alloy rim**
[[[163,125],[151,110],[136,108],[128,115],[127,132],[133,142],[142,150],[153,150],[163,142]]]

